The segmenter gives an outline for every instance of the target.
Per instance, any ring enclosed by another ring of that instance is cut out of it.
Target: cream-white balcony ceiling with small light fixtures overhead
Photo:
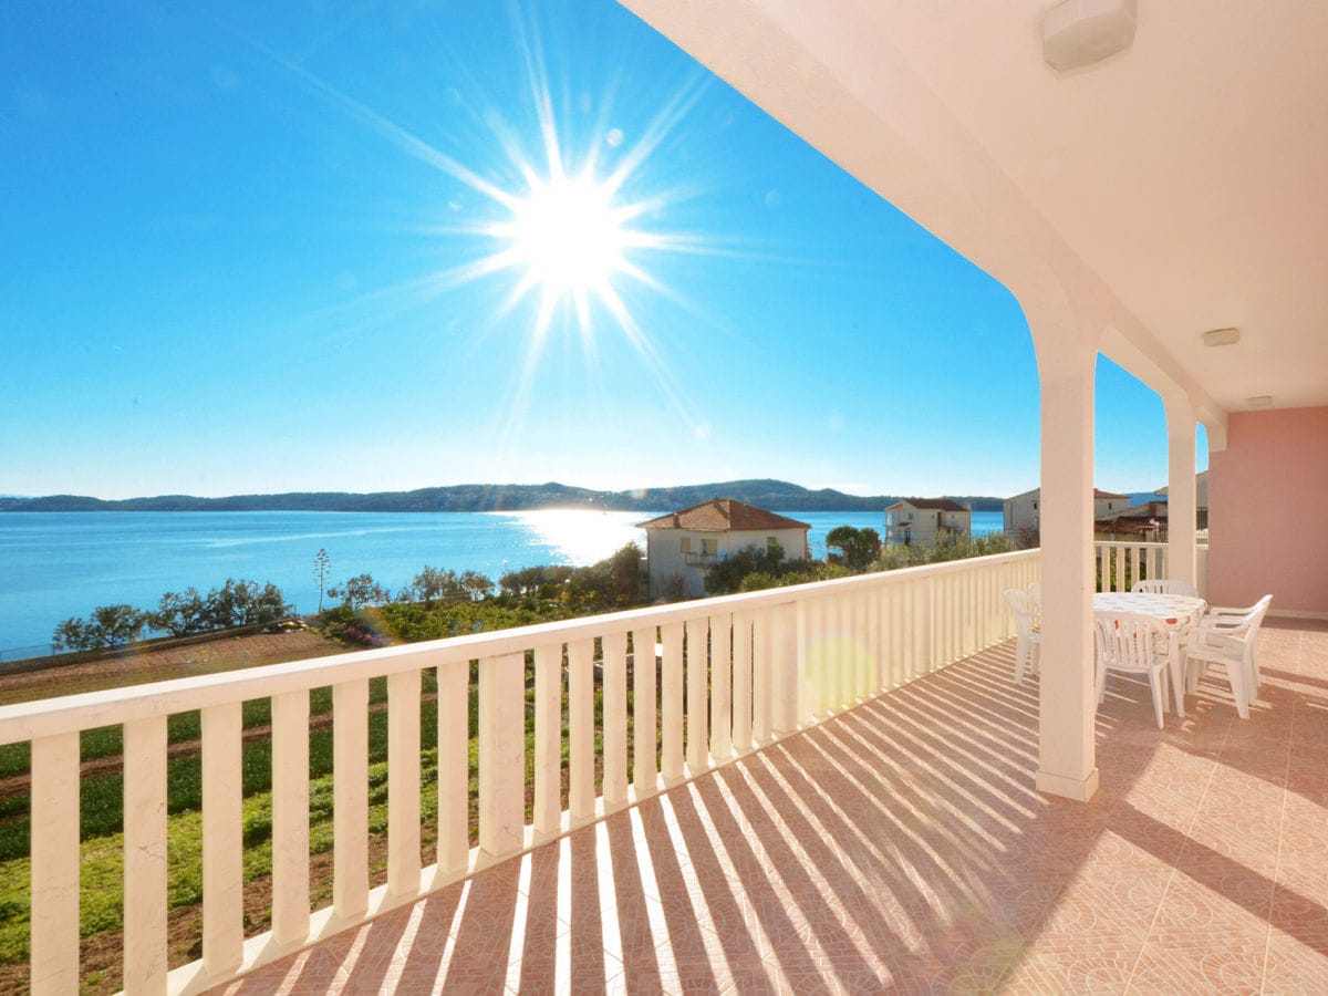
[[[1328,404],[1328,4],[1138,0],[1130,49],[1057,73],[1050,0],[623,3],[1031,320],[1060,288],[1208,413]]]

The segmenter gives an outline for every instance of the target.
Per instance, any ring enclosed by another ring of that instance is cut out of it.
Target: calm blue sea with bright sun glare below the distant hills
[[[150,610],[167,591],[206,595],[230,578],[271,582],[296,612],[315,612],[319,550],[329,586],[371,574],[394,592],[426,566],[497,582],[522,567],[591,564],[625,543],[644,548],[636,523],[663,511],[0,513],[0,661],[49,653],[58,623],[100,606]],[[811,526],[815,558],[835,526],[883,533],[883,513],[782,514]],[[973,513],[975,535],[1000,529],[1001,513]]]

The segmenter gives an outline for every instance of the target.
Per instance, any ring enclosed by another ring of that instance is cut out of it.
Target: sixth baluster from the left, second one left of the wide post
[[[420,892],[420,672],[388,676],[388,892]]]

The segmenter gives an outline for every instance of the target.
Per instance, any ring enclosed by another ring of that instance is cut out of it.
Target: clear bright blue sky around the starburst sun
[[[1037,483],[1009,292],[614,3],[8,4],[0,66],[0,494]],[[1097,422],[1166,483],[1106,360]]]

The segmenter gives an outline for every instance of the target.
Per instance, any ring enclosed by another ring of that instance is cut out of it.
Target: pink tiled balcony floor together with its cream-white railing
[[[78,988],[78,732],[110,722],[126,745],[129,992],[1321,989],[1328,625],[1268,627],[1248,721],[1206,681],[1159,732],[1146,688],[1113,683],[1101,790],[1080,805],[1035,790],[1038,689],[1013,684],[1000,591],[1037,574],[1027,551],[0,709],[0,741],[32,741],[33,825],[49,829],[32,855],[33,989]],[[635,647],[657,648],[656,667],[632,667]],[[385,847],[368,833],[380,677]],[[311,915],[309,691],[324,685],[336,839],[332,902]],[[246,884],[236,764],[240,704],[258,697],[272,699],[270,900]],[[193,708],[202,957],[167,971],[166,716]],[[437,821],[421,817],[429,790]]]

